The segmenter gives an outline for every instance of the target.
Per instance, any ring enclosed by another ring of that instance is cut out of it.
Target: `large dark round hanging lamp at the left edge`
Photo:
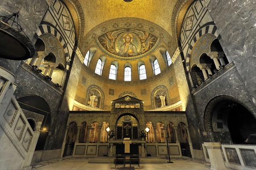
[[[32,58],[35,47],[20,26],[19,12],[0,17],[0,58],[9,60]]]

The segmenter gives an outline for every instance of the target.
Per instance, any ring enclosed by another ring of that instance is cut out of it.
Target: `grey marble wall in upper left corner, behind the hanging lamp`
[[[45,0],[1,0],[0,15],[6,16],[13,12],[20,12],[20,25],[32,40],[48,7]]]

